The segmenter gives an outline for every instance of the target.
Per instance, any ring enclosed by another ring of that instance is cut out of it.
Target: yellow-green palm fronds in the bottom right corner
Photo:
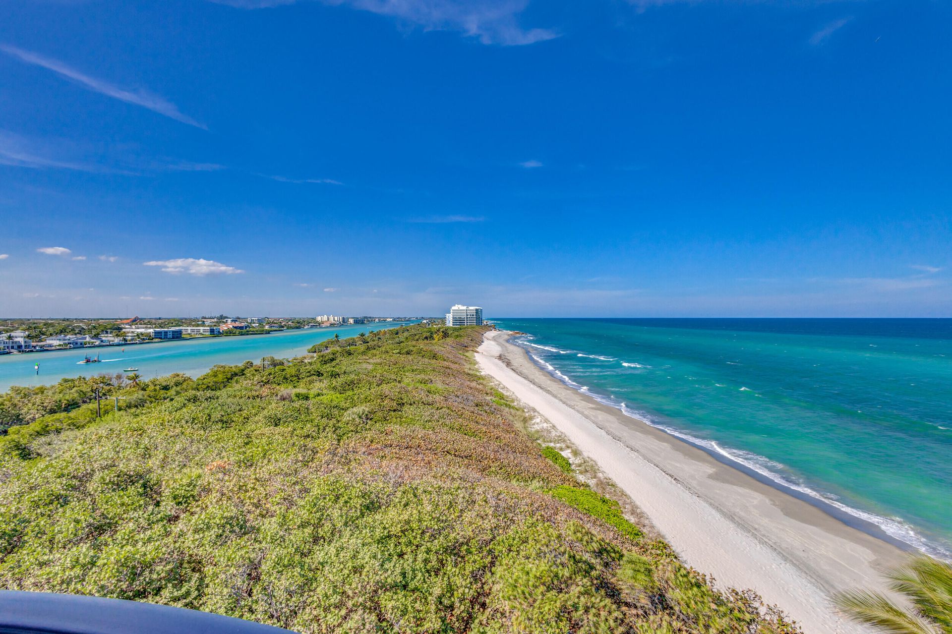
[[[910,607],[868,590],[841,592],[834,602],[854,621],[888,634],[952,634],[952,565],[916,557],[890,570],[885,578]]]

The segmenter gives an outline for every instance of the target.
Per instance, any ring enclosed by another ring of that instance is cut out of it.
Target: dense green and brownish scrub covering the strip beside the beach
[[[546,459],[476,373],[482,332],[11,391],[0,587],[307,633],[796,631]]]

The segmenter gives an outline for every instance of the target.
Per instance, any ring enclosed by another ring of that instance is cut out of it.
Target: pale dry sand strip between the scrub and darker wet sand
[[[865,632],[837,615],[823,589],[779,552],[584,415],[506,367],[498,358],[501,353],[502,347],[487,339],[475,356],[486,374],[543,415],[621,486],[688,565],[712,574],[720,584],[753,587],[767,604],[780,605],[808,634]]]

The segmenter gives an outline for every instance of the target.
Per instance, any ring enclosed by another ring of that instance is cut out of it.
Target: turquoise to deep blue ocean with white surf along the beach
[[[516,343],[567,386],[952,558],[952,320],[496,323],[526,332]]]

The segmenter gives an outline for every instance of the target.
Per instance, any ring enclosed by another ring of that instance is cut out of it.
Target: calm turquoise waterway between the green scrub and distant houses
[[[307,348],[331,339],[334,333],[342,338],[361,331],[380,330],[399,326],[396,322],[378,322],[336,328],[301,328],[282,330],[267,335],[215,337],[211,339],[183,339],[123,347],[95,347],[89,350],[57,350],[5,354],[0,356],[0,391],[10,386],[43,386],[56,383],[64,377],[89,376],[104,372],[114,374],[127,367],[138,367],[147,379],[172,372],[198,376],[218,364],[258,363],[262,357],[279,359],[299,357]],[[78,365],[87,353],[99,354],[102,363]],[[40,365],[37,375],[34,364]]]

